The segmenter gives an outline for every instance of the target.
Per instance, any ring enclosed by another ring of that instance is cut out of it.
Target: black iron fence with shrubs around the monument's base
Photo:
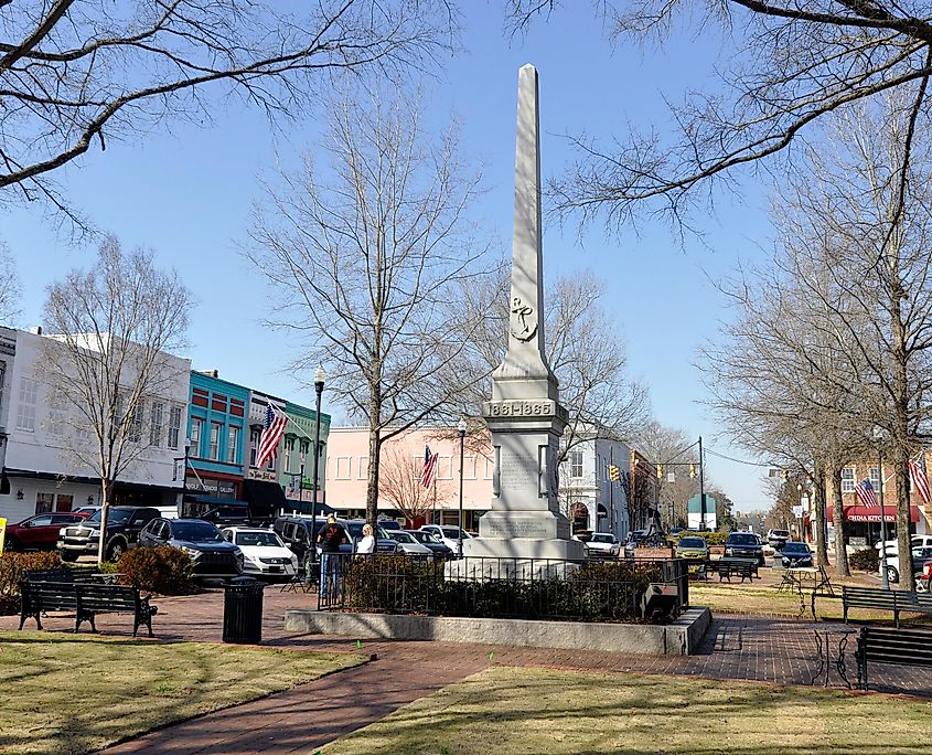
[[[485,618],[636,621],[675,617],[689,603],[682,559],[576,563],[405,555],[331,556],[322,610]]]

